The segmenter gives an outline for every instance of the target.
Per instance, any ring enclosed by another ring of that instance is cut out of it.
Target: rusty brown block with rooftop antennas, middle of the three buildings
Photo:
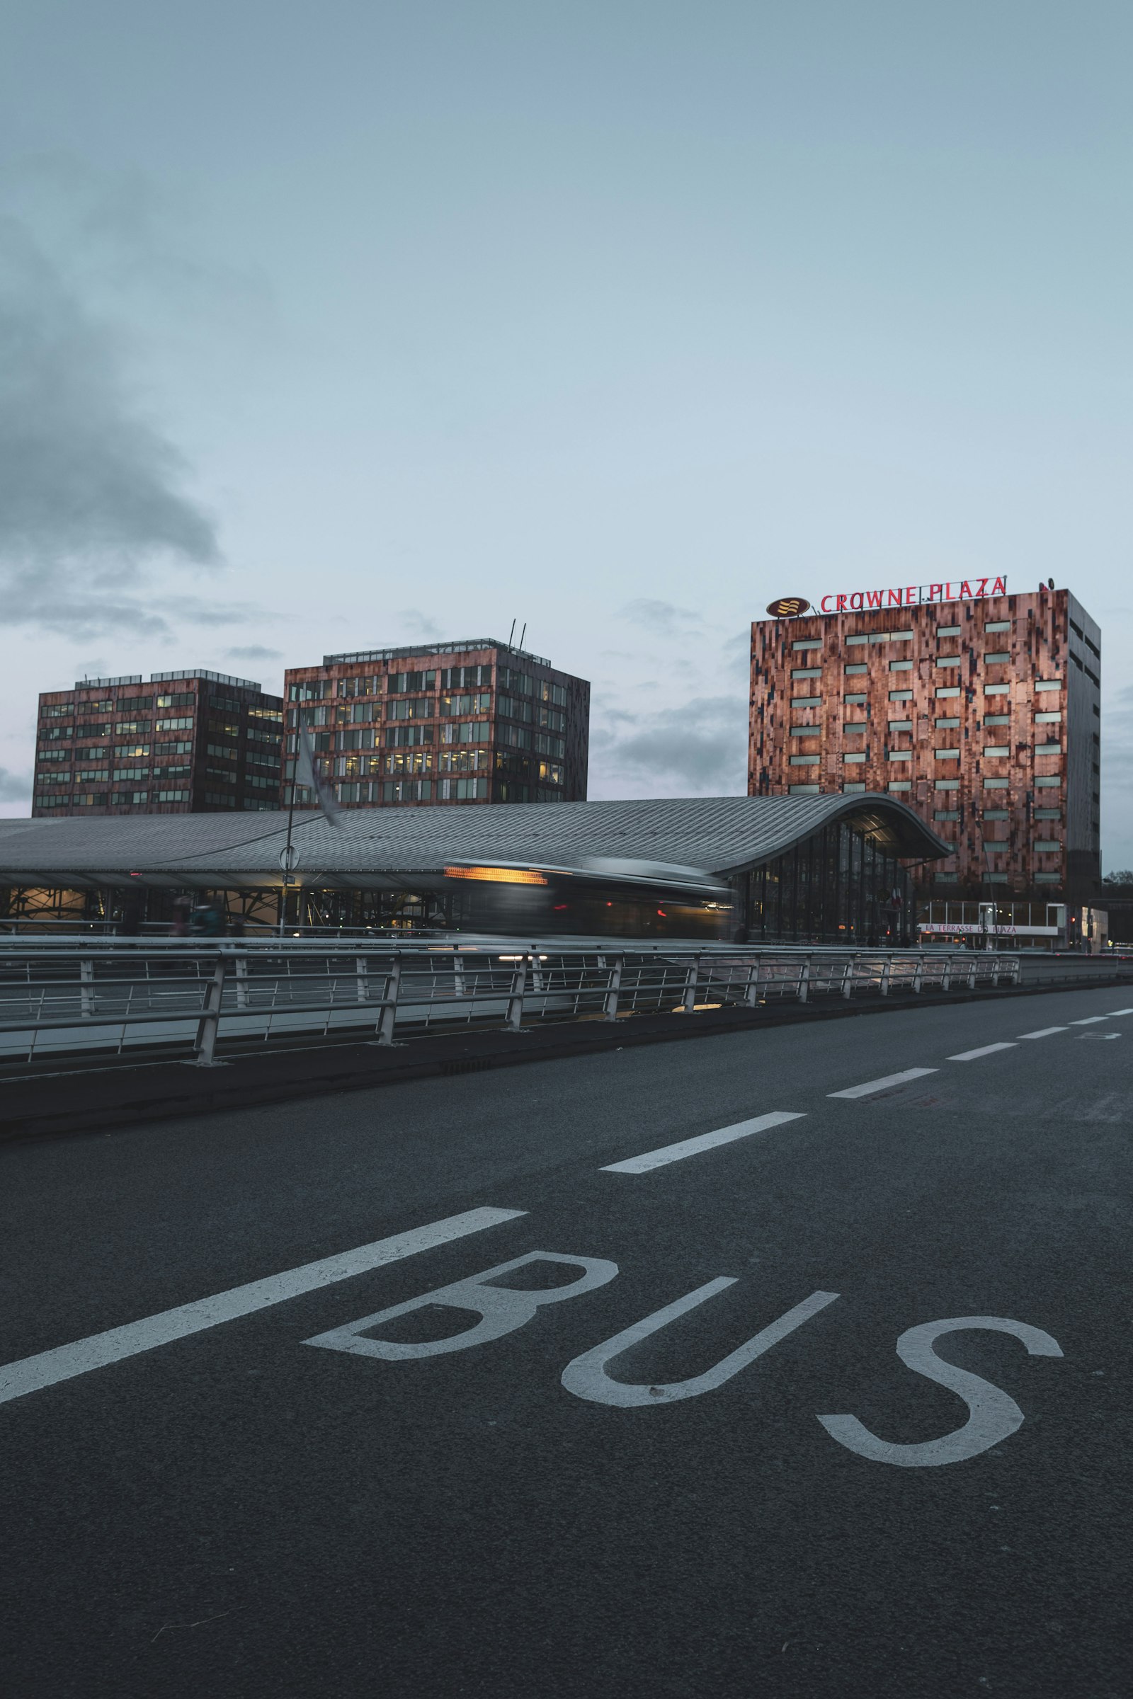
[[[328,654],[284,693],[284,804],[302,724],[347,809],[586,800],[589,683],[510,644]]]

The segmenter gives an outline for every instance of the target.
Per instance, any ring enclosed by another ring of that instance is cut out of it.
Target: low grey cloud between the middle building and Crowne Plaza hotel
[[[696,697],[679,708],[618,715],[629,729],[598,729],[595,766],[652,795],[742,793],[747,787],[747,702],[744,697]],[[640,792],[644,793],[644,792]]]

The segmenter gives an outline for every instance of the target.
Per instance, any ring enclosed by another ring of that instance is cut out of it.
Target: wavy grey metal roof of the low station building
[[[880,793],[353,809],[338,827],[304,812],[294,843],[304,883],[358,885],[462,861],[591,872],[595,858],[651,863],[644,878],[662,878],[659,863],[703,877],[758,866],[839,819],[899,856],[950,855],[912,809]],[[285,836],[285,814],[0,821],[0,883],[97,885],[131,873],[148,883],[275,883]]]

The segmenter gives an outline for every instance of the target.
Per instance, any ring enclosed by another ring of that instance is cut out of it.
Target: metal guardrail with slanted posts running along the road
[[[460,1028],[1016,985],[1019,974],[1017,955],[984,951],[5,940],[0,1060],[161,1045],[209,1067],[221,1038],[369,1030],[370,1043],[392,1045]]]

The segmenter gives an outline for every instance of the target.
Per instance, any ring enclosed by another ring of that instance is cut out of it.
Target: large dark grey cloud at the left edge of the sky
[[[0,216],[0,595],[46,630],[168,632],[136,591],[153,564],[221,562],[189,467],[148,416],[126,340],[31,228]],[[216,610],[178,596],[182,618]],[[226,613],[231,618],[233,613]]]

